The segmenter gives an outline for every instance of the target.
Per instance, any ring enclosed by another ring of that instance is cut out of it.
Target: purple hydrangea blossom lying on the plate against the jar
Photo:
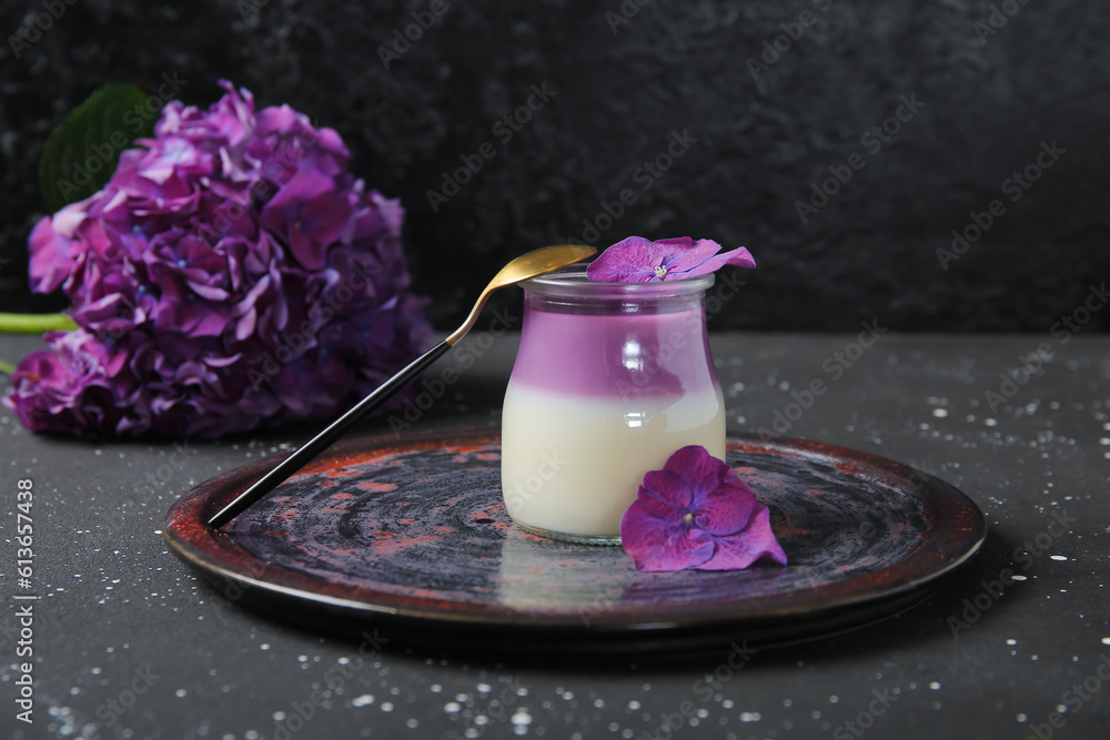
[[[698,445],[644,476],[620,520],[620,544],[644,571],[739,570],[761,557],[786,565],[767,507]]]

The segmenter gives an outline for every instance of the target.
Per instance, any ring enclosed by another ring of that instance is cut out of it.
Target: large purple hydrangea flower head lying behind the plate
[[[4,404],[36,430],[213,437],[323,419],[431,336],[404,211],[347,171],[331,129],[245,89],[173,101],[104,189],[42,219],[31,286],[80,327],[47,335]]]

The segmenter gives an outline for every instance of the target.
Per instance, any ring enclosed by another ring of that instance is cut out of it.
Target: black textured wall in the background
[[[407,206],[417,286],[442,327],[497,263],[581,239],[625,189],[635,203],[587,241],[689,234],[755,254],[718,328],[851,330],[877,316],[902,330],[1040,332],[1106,280],[1106,0],[996,3],[1012,17],[996,16],[989,36],[976,30],[986,1],[640,1],[253,0],[244,13],[252,0],[78,0],[19,59],[0,49],[0,308],[28,305],[22,255],[42,212],[46,135],[100,84],[157,85],[163,73],[188,81],[186,102],[213,101],[224,77],[260,105],[289,102],[339,130],[355,171]],[[376,49],[433,7],[445,11],[385,69]],[[2,8],[6,38],[42,12],[41,0]],[[766,52],[756,80],[747,60],[776,37],[785,51]],[[544,83],[555,94],[531,121],[495,128]],[[925,104],[887,123],[897,133],[868,134],[911,95]],[[649,174],[644,162],[674,131],[696,141]],[[1052,166],[1003,192],[1053,140],[1066,151]],[[494,156],[433,209],[441,172],[485,142]],[[854,154],[861,169],[847,165]],[[851,179],[803,223],[796,201],[830,165]],[[936,250],[995,199],[1005,213],[942,270]]]

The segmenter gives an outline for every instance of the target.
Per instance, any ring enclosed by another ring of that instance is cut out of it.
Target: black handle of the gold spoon
[[[274,469],[259,478],[250,488],[235,497],[209,519],[209,526],[219,529],[242,514],[251,504],[259,500],[280,486],[291,475],[307,465],[333,442],[339,439],[355,424],[369,416],[379,406],[392,398],[398,391],[408,385],[428,365],[443,356],[451,348],[446,342],[441,342],[423,355],[414,359],[407,367],[383,383],[376,391],[360,401],[346,414],[339,417],[326,429],[306,442],[300,449],[282,460]]]

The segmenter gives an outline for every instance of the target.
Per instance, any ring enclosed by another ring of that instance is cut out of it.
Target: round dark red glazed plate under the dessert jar
[[[350,439],[223,531],[205,521],[275,460],[167,513],[174,554],[268,616],[435,647],[644,653],[819,637],[906,609],[971,557],[979,508],[889,459],[800,439],[728,440],[790,565],[640,574],[618,547],[513,526],[487,429]]]

